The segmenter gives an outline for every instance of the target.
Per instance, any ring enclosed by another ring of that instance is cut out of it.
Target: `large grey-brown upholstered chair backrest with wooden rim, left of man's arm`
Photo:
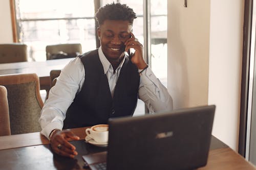
[[[44,103],[36,74],[0,76],[0,85],[8,91],[11,134],[39,132],[40,111]]]

